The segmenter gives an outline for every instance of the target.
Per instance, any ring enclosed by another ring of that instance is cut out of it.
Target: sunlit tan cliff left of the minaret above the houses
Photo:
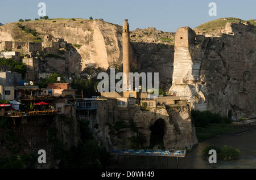
[[[42,39],[50,35],[72,44],[81,56],[68,59],[73,61],[71,63],[81,64],[80,69],[71,68],[72,72],[81,72],[89,66],[106,70],[113,63],[122,63],[122,27],[119,25],[86,19],[34,20],[20,24],[34,29]],[[22,31],[17,23],[7,23],[0,28],[0,40],[35,41],[35,37]],[[134,68],[139,67],[135,56],[131,60]]]

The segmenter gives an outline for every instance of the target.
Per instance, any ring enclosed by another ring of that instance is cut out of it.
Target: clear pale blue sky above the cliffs
[[[39,18],[38,3],[46,3],[49,18],[104,19],[122,25],[129,20],[130,29],[156,27],[176,32],[177,28],[218,18],[256,19],[255,0],[0,0],[0,23]],[[216,3],[216,16],[209,16],[210,2]]]

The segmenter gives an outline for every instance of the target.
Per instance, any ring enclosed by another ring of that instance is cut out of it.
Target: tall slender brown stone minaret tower
[[[123,86],[126,84],[127,89],[129,88],[129,71],[130,71],[130,62],[129,62],[129,49],[130,49],[130,32],[129,32],[129,23],[125,19],[123,23],[123,74],[126,75],[127,80],[123,79]],[[126,91],[127,89],[123,89]]]

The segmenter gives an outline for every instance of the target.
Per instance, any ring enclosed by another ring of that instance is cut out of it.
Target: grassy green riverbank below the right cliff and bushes
[[[251,130],[256,130],[256,127],[233,126],[232,124],[211,124],[207,127],[196,127],[196,137],[199,142],[203,142],[212,138],[240,134]]]

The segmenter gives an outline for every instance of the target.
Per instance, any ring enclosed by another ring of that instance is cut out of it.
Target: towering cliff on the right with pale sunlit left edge
[[[205,37],[179,28],[170,91],[197,109],[255,117],[255,30],[249,22],[227,23],[221,37]]]

